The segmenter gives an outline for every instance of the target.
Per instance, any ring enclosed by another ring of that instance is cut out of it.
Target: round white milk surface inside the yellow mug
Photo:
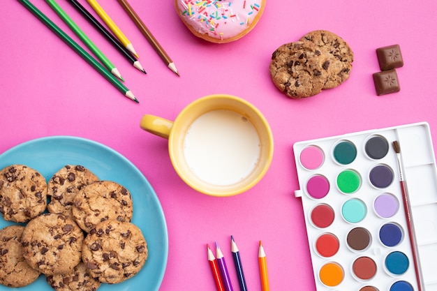
[[[193,173],[209,184],[226,186],[246,178],[260,157],[253,124],[231,110],[207,112],[188,128],[184,156]]]

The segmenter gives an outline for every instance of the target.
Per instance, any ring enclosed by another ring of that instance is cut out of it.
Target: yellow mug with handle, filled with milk
[[[255,186],[273,157],[273,135],[246,100],[214,94],[187,105],[175,121],[146,114],[140,126],[168,139],[170,160],[191,188],[230,196]]]

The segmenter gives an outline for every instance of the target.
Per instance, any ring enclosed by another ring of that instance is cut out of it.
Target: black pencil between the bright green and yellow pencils
[[[128,51],[128,49],[126,49],[126,47],[124,47],[120,41],[112,35],[112,33],[110,33],[110,31],[108,31],[108,29],[106,29],[106,27],[103,26],[103,24],[101,24],[101,22],[99,22],[96,17],[94,17],[91,13],[89,13],[89,11],[84,8],[84,6],[82,6],[81,3],[79,3],[77,0],[68,0],[71,5],[73,5],[73,7],[86,19],[88,20],[88,22],[94,26],[95,29],[97,29],[98,32],[101,33],[102,36],[104,36],[111,44],[112,46],[114,46],[119,52],[120,54],[126,59],[128,60],[135,68],[138,68],[138,70],[141,70],[142,73],[146,73],[145,69],[142,67],[142,65],[140,64],[140,61],[138,61],[138,59],[136,59],[135,57],[133,57],[133,55],[131,54],[131,52]]]

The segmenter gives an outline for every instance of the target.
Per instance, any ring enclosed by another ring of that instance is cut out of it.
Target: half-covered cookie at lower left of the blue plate
[[[12,288],[33,283],[40,272],[31,268],[23,258],[22,225],[10,225],[0,230],[0,284]]]

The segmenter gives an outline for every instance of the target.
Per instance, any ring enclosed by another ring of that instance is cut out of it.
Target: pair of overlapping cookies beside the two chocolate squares
[[[348,79],[352,62],[353,51],[343,38],[316,30],[275,50],[269,72],[281,92],[299,99],[339,86]]]

